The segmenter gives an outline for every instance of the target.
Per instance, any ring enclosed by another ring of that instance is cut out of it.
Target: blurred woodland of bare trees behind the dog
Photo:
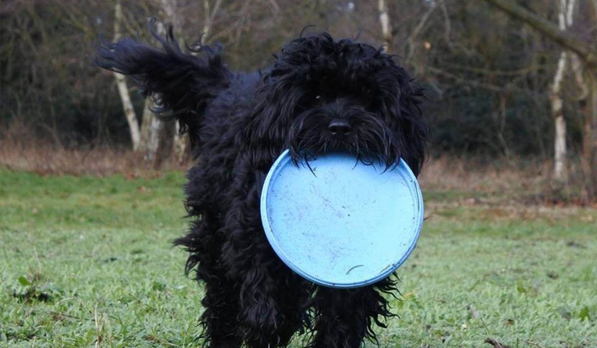
[[[430,162],[460,166],[427,171],[499,162],[533,176],[541,199],[595,202],[597,0],[1,0],[0,165],[188,164],[175,125],[93,64],[100,37],[155,42],[150,17],[189,47],[221,44],[234,70],[268,66],[307,25],[386,45],[426,88]]]

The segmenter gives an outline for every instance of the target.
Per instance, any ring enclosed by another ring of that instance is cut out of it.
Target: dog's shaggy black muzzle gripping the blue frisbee
[[[328,152],[346,152],[357,162],[380,164],[386,170],[399,161],[399,141],[377,115],[361,110],[347,116],[330,118],[318,112],[299,115],[290,127],[287,144],[294,165],[309,165]]]

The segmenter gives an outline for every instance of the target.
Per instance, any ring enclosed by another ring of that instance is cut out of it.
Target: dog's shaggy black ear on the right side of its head
[[[387,66],[378,76],[381,113],[396,133],[402,159],[418,175],[425,159],[429,133],[421,111],[423,90],[414,86],[413,79],[392,57],[383,56],[387,59]]]

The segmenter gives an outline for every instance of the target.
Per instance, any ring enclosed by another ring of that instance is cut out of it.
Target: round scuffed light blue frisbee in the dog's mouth
[[[402,159],[384,170],[346,153],[297,167],[285,150],[261,191],[261,222],[278,257],[326,287],[357,288],[389,276],[417,243],[423,197]]]

